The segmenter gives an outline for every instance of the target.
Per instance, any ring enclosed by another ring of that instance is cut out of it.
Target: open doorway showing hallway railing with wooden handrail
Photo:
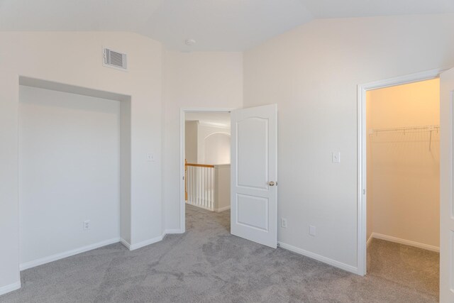
[[[230,219],[230,121],[229,110],[182,111],[185,228],[195,216]]]

